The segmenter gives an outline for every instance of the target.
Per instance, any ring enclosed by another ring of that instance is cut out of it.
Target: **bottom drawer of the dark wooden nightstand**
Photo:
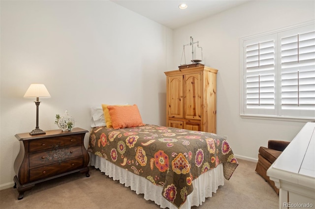
[[[62,163],[55,163],[39,168],[30,169],[30,182],[62,174],[64,172],[68,172],[71,170],[75,170],[77,168],[82,167],[82,165],[83,158],[80,157],[76,159],[63,161]]]

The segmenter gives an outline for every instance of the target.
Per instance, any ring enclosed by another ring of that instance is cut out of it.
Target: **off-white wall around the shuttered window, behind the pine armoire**
[[[234,154],[257,159],[268,139],[291,141],[304,122],[240,117],[241,37],[315,19],[315,1],[258,0],[174,30],[174,68],[180,64],[189,37],[203,47],[204,64],[219,70],[217,78],[217,133],[227,135]],[[191,59],[191,51],[185,49]]]

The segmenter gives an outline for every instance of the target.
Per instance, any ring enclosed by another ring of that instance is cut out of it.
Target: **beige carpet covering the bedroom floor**
[[[217,193],[193,209],[277,209],[278,195],[254,170],[256,163],[239,166]],[[39,183],[17,200],[16,189],[0,191],[0,209],[158,209],[129,187],[113,181],[94,167],[89,178],[76,173]],[[12,177],[13,179],[13,177]]]

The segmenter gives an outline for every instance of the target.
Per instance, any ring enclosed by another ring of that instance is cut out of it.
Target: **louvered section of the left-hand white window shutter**
[[[275,108],[274,40],[246,46],[247,108]]]

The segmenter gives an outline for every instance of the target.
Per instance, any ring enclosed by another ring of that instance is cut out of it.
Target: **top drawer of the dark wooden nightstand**
[[[74,146],[81,144],[81,135],[59,136],[48,139],[30,141],[29,152],[58,149],[61,147]]]

